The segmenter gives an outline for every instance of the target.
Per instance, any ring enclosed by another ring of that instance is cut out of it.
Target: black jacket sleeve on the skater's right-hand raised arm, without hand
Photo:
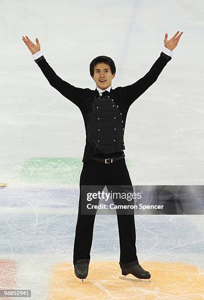
[[[144,77],[131,85],[121,88],[122,92],[125,93],[124,97],[129,106],[156,81],[163,68],[171,59],[171,56],[161,52],[159,58]]]

